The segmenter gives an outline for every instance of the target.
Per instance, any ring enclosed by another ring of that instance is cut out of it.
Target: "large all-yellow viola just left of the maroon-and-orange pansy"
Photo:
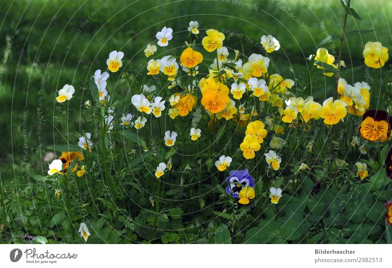
[[[346,104],[341,100],[333,100],[332,97],[322,103],[319,116],[324,119],[324,124],[335,125],[347,115]]]

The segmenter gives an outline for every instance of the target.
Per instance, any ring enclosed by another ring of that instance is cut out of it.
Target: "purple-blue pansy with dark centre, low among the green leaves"
[[[228,195],[233,193],[233,198],[238,198],[238,193],[243,187],[254,187],[254,179],[250,176],[247,169],[244,170],[232,170],[230,171],[229,177],[226,178],[226,192]]]

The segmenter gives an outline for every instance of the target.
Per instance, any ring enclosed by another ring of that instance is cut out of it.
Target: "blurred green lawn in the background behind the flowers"
[[[2,179],[24,174],[24,165],[32,161],[41,165],[37,148],[53,143],[65,143],[61,135],[44,120],[44,131],[37,135],[37,107],[39,88],[45,79],[42,95],[43,112],[50,120],[56,112],[55,89],[71,83],[77,90],[76,101],[82,103],[87,97],[78,94],[86,79],[95,69],[105,68],[106,58],[112,50],[122,50],[125,62],[131,59],[138,72],[147,63],[143,49],[155,42],[155,33],[167,25],[174,29],[174,47],[183,45],[189,21],[196,20],[200,29],[216,28],[236,31],[260,41],[264,34],[271,34],[281,43],[275,53],[275,62],[282,73],[290,63],[305,64],[305,57],[317,50],[317,44],[326,36],[320,22],[329,34],[342,30],[344,11],[339,0],[247,0],[253,4],[249,9],[235,4],[235,0],[139,0],[135,2],[114,0],[1,0],[0,51],[4,55],[10,38],[13,45],[2,72],[0,91],[0,170]],[[368,41],[381,41],[390,46],[392,1],[352,0],[351,6],[362,21],[348,16],[346,32],[357,29],[376,29],[374,33],[352,37],[344,44],[343,60],[347,67],[362,64],[363,46]],[[292,18],[299,20],[300,26]],[[88,23],[85,25],[83,22]],[[200,31],[204,36],[204,31]],[[76,36],[77,35],[77,36]],[[73,40],[74,38],[74,40]],[[248,39],[247,39],[248,40]],[[387,44],[387,41],[389,42]],[[246,54],[257,53],[254,43],[243,39]],[[338,43],[335,42],[336,49]],[[226,46],[240,49],[239,38],[231,38]],[[67,48],[68,46],[68,48]],[[326,46],[328,48],[328,46]],[[158,52],[170,50],[159,48]],[[124,68],[126,69],[126,68]],[[144,70],[142,70],[144,74]],[[115,81],[111,81],[113,83]],[[126,86],[116,85],[117,94],[125,94]],[[78,107],[79,107],[78,106]],[[54,118],[59,131],[70,137],[79,128],[79,110],[72,107],[67,125]],[[25,155],[24,113],[27,111],[26,135],[29,159]],[[11,136],[12,135],[12,136]],[[11,160],[14,160],[11,166]],[[46,163],[44,163],[46,165]],[[22,168],[16,168],[22,167]]]

